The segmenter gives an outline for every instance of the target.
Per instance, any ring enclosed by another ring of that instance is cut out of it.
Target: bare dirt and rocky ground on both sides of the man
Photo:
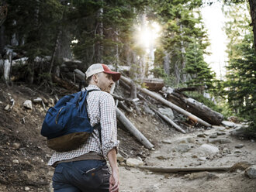
[[[58,95],[61,97],[61,95]],[[52,95],[37,87],[0,84],[0,191],[51,191],[54,173],[47,161],[53,153],[40,135],[45,110],[40,104],[33,109],[23,107],[23,102],[43,98],[50,106]],[[13,99],[13,100],[12,100]],[[12,108],[12,101],[15,104]],[[175,131],[161,118],[143,112],[126,114],[137,129],[154,144],[148,150],[130,135],[118,122],[119,153],[125,158],[137,158],[145,166],[202,167],[234,166],[233,171],[200,173],[154,173],[119,163],[120,190],[123,192],[151,191],[221,191],[254,192],[256,180],[244,175],[242,165],[256,164],[256,142],[253,139],[235,138],[230,132],[235,127],[200,126],[183,127],[186,134]],[[212,140],[211,139],[219,139]],[[213,143],[214,141],[214,143]],[[223,143],[222,141],[225,141]],[[202,146],[211,147],[202,149]],[[215,148],[214,148],[215,147]],[[217,151],[214,151],[215,149]],[[247,162],[247,163],[245,163]]]

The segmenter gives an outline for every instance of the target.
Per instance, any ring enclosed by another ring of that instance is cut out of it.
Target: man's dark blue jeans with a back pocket
[[[104,160],[59,163],[54,171],[54,192],[107,192],[109,177]]]

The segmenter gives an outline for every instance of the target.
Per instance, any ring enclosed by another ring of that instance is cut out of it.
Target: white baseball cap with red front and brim
[[[88,77],[91,77],[93,74],[98,74],[98,73],[105,73],[105,74],[112,74],[112,80],[113,81],[118,81],[119,78],[121,77],[121,74],[119,72],[115,72],[109,69],[109,67],[106,66],[106,64],[102,63],[95,63],[92,64],[90,67],[88,67],[88,70],[86,70],[86,79]]]

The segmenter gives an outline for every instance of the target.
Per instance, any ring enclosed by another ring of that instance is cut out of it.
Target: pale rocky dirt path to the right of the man
[[[214,126],[162,139],[159,148],[152,151],[143,164],[164,167],[233,166],[232,172],[153,173],[133,167],[142,163],[140,158],[130,166],[126,166],[130,162],[126,159],[126,164],[120,163],[119,166],[120,191],[255,192],[256,179],[249,178],[244,169],[256,165],[256,142],[231,136],[239,125],[231,126]],[[256,177],[255,172],[251,177]]]

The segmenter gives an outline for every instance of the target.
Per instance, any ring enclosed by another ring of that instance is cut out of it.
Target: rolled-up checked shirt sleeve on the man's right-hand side
[[[102,128],[102,153],[106,157],[111,149],[118,151],[119,141],[117,140],[116,127],[116,106],[110,94],[99,101],[100,124]]]

